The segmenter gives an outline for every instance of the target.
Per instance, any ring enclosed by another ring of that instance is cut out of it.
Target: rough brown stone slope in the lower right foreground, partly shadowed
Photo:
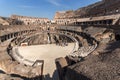
[[[109,52],[89,55],[84,61],[69,66],[66,80],[120,80],[120,48],[118,44],[119,42],[110,44],[111,46],[106,48],[108,51],[110,50]]]

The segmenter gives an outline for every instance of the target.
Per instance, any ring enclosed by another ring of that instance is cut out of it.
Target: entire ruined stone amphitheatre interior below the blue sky
[[[120,0],[0,17],[0,80],[120,80],[119,48]]]

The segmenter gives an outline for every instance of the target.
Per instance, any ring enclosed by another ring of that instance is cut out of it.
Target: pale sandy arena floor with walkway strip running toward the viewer
[[[25,59],[36,61],[44,60],[44,75],[47,77],[57,77],[55,59],[69,55],[75,47],[75,43],[69,43],[68,46],[58,46],[56,44],[34,45],[18,47],[19,54]],[[55,78],[54,77],[54,78]],[[45,79],[51,80],[51,79]],[[58,80],[58,79],[52,79]]]

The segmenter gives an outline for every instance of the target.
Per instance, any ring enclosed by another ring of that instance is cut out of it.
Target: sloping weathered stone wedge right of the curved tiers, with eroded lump
[[[111,29],[99,28],[99,27],[88,27],[83,30],[85,33],[90,34],[100,43],[109,43],[115,40],[115,33]]]

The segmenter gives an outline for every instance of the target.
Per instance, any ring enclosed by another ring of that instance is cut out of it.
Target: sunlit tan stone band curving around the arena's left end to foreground
[[[1,64],[0,69],[7,74],[17,74],[17,75],[20,75],[22,77],[27,77],[27,78],[33,78],[36,76],[40,76],[41,74],[40,66],[32,67],[32,66],[20,64],[18,61],[14,61],[12,57],[9,55],[9,53],[7,53],[6,49],[14,38],[15,37],[6,39],[4,42],[1,42],[0,46],[1,47],[4,46],[4,48],[0,49],[0,55],[3,56],[0,59],[0,64]],[[19,54],[17,54],[17,56],[18,55]]]

